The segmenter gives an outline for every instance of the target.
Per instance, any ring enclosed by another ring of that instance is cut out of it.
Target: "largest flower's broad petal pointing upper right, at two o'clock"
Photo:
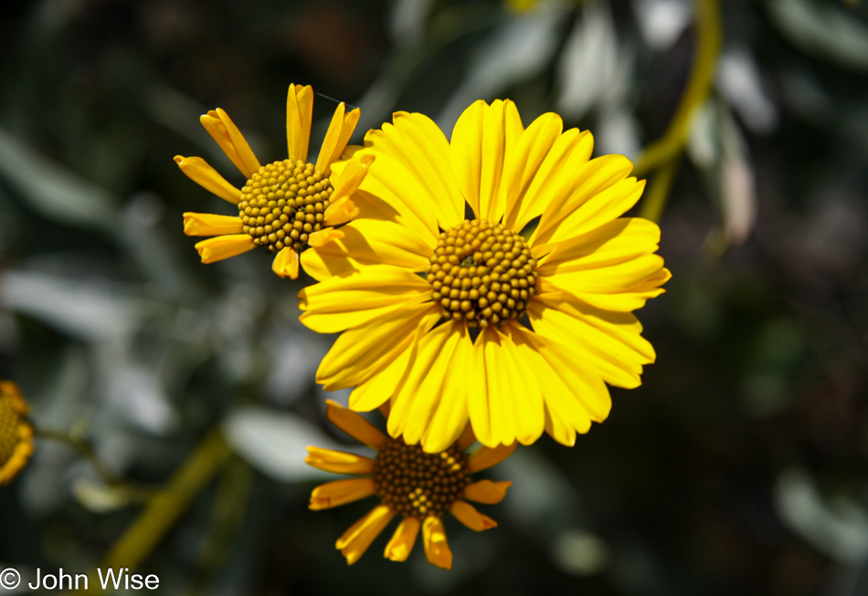
[[[563,240],[624,214],[641,195],[641,183],[627,178],[632,169],[623,155],[603,155],[561,173],[546,186],[551,196],[531,244]]]

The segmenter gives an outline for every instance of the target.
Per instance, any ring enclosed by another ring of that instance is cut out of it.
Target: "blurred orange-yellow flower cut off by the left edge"
[[[33,453],[27,404],[11,381],[0,381],[0,485],[8,484]]]

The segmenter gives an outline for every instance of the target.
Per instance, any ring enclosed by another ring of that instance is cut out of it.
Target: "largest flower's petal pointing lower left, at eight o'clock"
[[[423,333],[433,327],[440,318],[438,310],[430,303],[412,304],[344,331],[320,363],[316,382],[335,391],[367,381],[408,349],[423,321]]]

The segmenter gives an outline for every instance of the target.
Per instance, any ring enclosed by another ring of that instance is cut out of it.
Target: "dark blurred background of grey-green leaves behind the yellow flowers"
[[[0,377],[54,437],[0,487],[0,567],[90,570],[198,471],[123,546],[162,593],[868,594],[868,5],[38,0],[0,15]],[[393,110],[445,131],[475,99],[513,99],[525,125],[555,110],[596,154],[633,159],[650,181],[636,213],[661,214],[674,277],[638,313],[657,363],[574,448],[544,437],[492,470],[514,483],[485,508],[501,525],[447,520],[450,572],[420,545],[383,559],[387,536],[346,566],[334,540],[371,501],[307,509],[323,476],[304,447],[349,444],[313,382],[332,339],[298,322],[309,280],[258,251],[203,266],[182,234],[183,212],[231,207],[175,154],[244,182],[198,116],[227,110],[260,161],[283,159],[291,82],[328,96],[312,152],[333,99],[361,107],[356,142]]]

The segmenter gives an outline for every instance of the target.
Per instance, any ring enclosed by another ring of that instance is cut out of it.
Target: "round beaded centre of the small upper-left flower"
[[[283,160],[263,165],[241,189],[242,231],[272,253],[285,246],[300,253],[309,235],[323,229],[332,193],[332,183],[311,163]]]

